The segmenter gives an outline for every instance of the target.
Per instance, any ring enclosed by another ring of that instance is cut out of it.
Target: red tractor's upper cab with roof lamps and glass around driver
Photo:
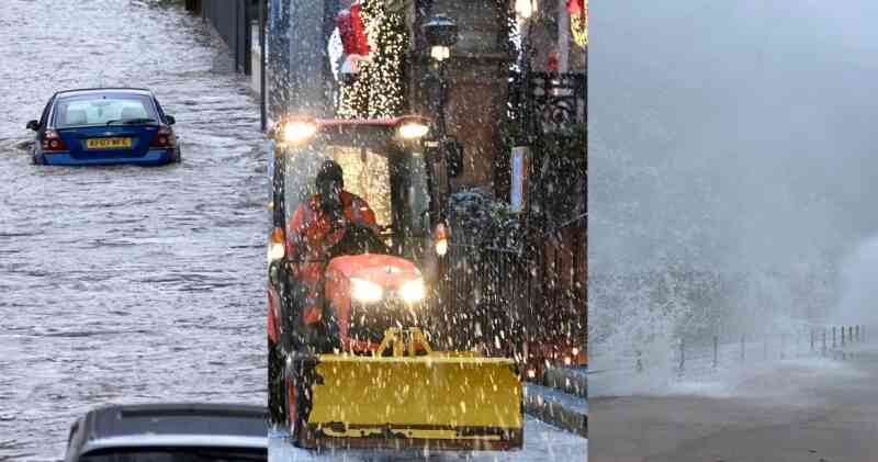
[[[275,159],[285,170],[278,171],[277,180],[282,177],[283,185],[275,188],[275,201],[281,202],[277,211],[283,212],[284,223],[318,193],[317,170],[330,159],[344,170],[345,191],[361,198],[374,212],[379,236],[387,250],[418,262],[426,257],[435,225],[430,172],[421,140],[427,133],[426,121],[317,120],[286,127],[290,133],[281,139],[291,142]]]

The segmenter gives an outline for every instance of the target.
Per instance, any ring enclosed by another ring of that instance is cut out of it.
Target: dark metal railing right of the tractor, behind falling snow
[[[439,284],[449,341],[515,356],[531,376],[583,363],[587,345],[585,228],[539,237],[522,251],[451,245]]]

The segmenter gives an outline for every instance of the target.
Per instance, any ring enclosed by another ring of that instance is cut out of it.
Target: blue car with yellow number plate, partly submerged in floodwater
[[[27,128],[34,164],[165,165],[180,161],[173,124],[149,90],[100,88],[55,93]]]

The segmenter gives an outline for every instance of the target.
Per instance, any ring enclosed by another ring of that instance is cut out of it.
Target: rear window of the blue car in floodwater
[[[54,125],[75,126],[154,123],[155,105],[143,94],[95,93],[61,97],[55,104]]]

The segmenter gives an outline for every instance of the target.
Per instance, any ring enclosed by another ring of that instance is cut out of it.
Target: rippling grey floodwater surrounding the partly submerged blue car
[[[63,455],[104,403],[264,403],[259,108],[182,2],[3,0],[0,461]],[[183,162],[32,166],[60,89],[153,89]]]

